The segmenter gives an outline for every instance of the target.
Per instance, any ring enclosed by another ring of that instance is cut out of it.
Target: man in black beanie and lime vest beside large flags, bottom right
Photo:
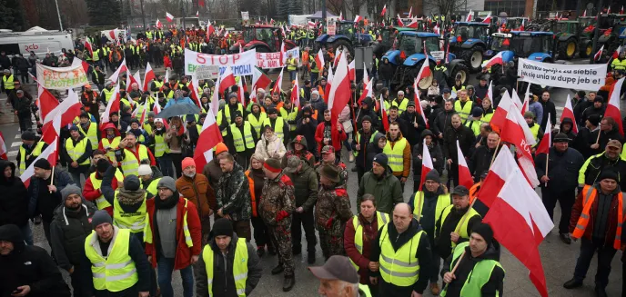
[[[470,234],[470,242],[460,243],[443,263],[443,277],[446,297],[457,297],[461,292],[467,296],[499,296],[504,287],[504,269],[498,262],[498,252],[493,246],[493,230],[489,224],[476,223]],[[462,256],[462,258],[460,258]],[[460,262],[459,262],[460,261]],[[457,270],[453,267],[459,262]],[[480,269],[478,269],[480,267]],[[487,279],[480,288],[471,279]],[[446,285],[447,284],[447,285]],[[463,290],[465,289],[465,290]]]

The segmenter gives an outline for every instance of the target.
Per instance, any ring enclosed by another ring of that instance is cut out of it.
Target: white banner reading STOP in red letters
[[[230,66],[235,76],[252,75],[252,67],[257,64],[257,50],[241,54],[202,54],[185,49],[185,75],[193,75],[198,66],[219,66],[219,73],[224,74]]]

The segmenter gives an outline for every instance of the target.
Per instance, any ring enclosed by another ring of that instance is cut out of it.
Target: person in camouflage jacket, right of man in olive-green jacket
[[[332,255],[344,255],[343,232],[352,218],[350,198],[346,186],[341,184],[338,167],[326,164],[320,170],[321,184],[318,203],[315,204],[315,222],[319,244],[326,260]]]

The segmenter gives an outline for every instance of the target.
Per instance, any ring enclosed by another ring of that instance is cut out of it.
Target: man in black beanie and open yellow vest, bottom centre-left
[[[246,262],[247,267],[235,264],[236,259],[237,262]],[[257,287],[262,271],[255,247],[247,243],[245,238],[238,238],[237,233],[233,232],[232,223],[226,218],[218,219],[213,224],[210,242],[200,254],[196,268],[198,297],[248,296]],[[231,273],[219,273],[231,270]],[[235,275],[242,273],[247,273],[245,286],[235,282]],[[210,292],[208,279],[213,280]]]

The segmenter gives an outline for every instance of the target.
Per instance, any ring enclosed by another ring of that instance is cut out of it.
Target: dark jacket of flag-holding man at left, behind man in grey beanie
[[[33,218],[37,212],[41,214],[42,219],[45,222],[52,222],[53,214],[56,206],[62,203],[61,191],[65,189],[68,184],[75,184],[72,176],[66,171],[55,168],[55,179],[53,183],[56,186],[56,192],[49,194],[49,199],[39,199],[39,187],[47,188],[50,182],[46,182],[38,177],[31,177],[30,184],[28,185],[28,197],[30,201],[28,203],[28,217]]]

